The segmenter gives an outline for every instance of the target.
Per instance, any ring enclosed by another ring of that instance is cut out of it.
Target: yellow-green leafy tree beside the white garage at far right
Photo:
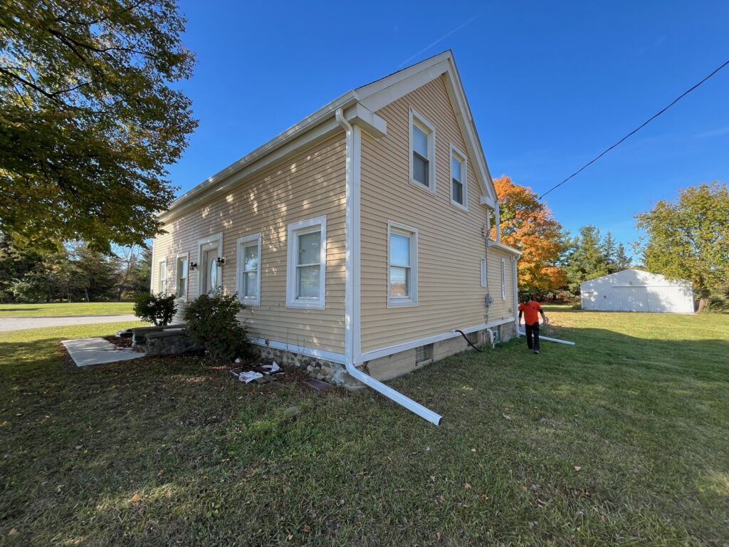
[[[636,215],[646,232],[636,250],[646,268],[671,279],[690,279],[699,296],[698,311],[712,290],[729,279],[729,190],[712,182],[679,191],[676,201],[661,200]]]

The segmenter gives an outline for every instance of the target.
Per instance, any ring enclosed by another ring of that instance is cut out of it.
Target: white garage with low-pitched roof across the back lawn
[[[580,303],[582,309],[595,311],[693,314],[693,290],[687,281],[623,270],[580,284]]]

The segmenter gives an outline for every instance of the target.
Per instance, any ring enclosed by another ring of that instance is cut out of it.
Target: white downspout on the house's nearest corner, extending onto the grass
[[[346,250],[345,250],[345,269],[344,269],[344,356],[345,356],[345,367],[350,376],[362,382],[362,384],[371,387],[377,392],[380,392],[385,397],[394,400],[395,403],[400,406],[408,408],[409,411],[414,412],[421,418],[428,420],[435,425],[440,425],[440,421],[443,416],[436,412],[422,406],[420,403],[416,403],[409,397],[405,397],[402,393],[386,386],[381,381],[375,380],[372,376],[369,376],[354,366],[354,333],[353,333],[353,321],[354,318],[354,238],[359,237],[359,230],[355,235],[354,228],[354,192],[359,192],[359,188],[354,187],[354,139],[352,136],[352,125],[345,120],[344,112],[341,108],[337,109],[335,113],[337,122],[344,129],[346,136],[346,176],[345,176],[345,225],[346,225]]]

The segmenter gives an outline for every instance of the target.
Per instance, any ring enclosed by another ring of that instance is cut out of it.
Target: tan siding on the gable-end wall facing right
[[[436,193],[410,182],[409,109],[435,128]],[[468,211],[451,203],[450,144],[467,150],[442,78],[378,110],[379,140],[362,138],[362,352],[513,317],[513,290],[502,300],[501,257],[488,249],[494,305],[485,305],[480,259],[486,255],[486,209],[467,158]],[[418,230],[418,306],[387,306],[387,223]],[[507,257],[507,280],[511,282]],[[494,289],[494,287],[496,287]],[[512,285],[510,285],[512,287]]]

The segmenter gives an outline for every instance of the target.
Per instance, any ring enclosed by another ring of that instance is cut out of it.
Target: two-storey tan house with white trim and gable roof
[[[499,205],[450,51],[348,91],[160,219],[153,291],[181,309],[237,291],[263,354],[330,381],[396,398],[381,381],[467,349],[457,330],[515,335],[520,253],[487,237]]]

